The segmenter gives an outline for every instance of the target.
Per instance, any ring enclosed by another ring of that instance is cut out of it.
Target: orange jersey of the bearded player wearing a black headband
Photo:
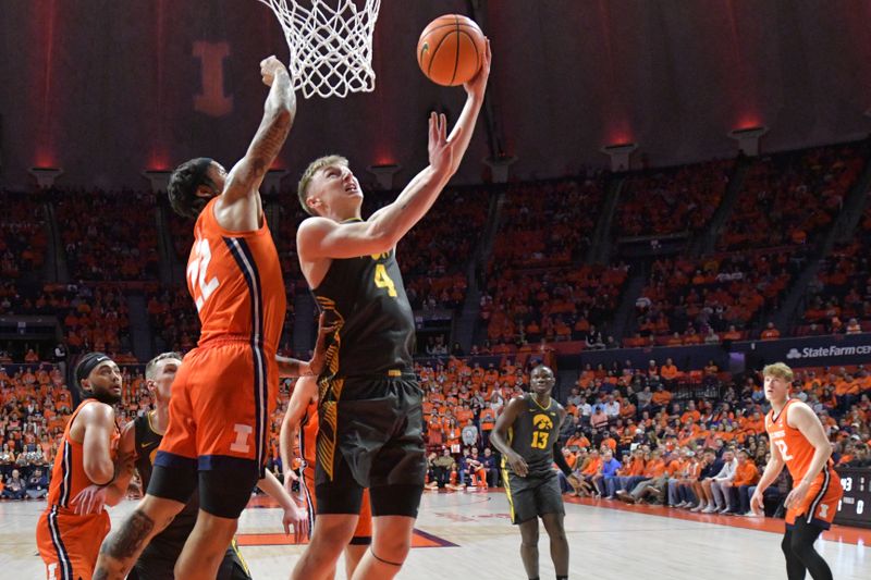
[[[66,423],[66,429],[63,431],[63,443],[61,447],[58,449],[58,457],[54,460],[54,467],[51,469],[51,483],[48,486],[48,506],[47,510],[50,510],[52,507],[58,507],[58,513],[60,514],[72,514],[72,509],[70,508],[70,502],[78,495],[78,493],[87,488],[88,485],[93,485],[94,482],[90,481],[85,474],[85,456],[83,451],[82,443],[75,442],[70,436],[70,429],[73,425],[73,421],[75,418],[78,417],[78,411],[81,411],[85,405],[90,405],[94,403],[98,403],[96,399],[89,398],[82,402],[82,404],[73,411],[72,417],[70,417],[70,421]],[[112,433],[112,441],[109,446],[112,453],[112,460],[114,461],[116,449],[118,449],[118,441],[121,437],[121,432],[115,425],[115,431]]]

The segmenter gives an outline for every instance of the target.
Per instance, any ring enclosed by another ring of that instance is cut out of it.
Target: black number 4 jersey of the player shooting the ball
[[[328,349],[328,374],[385,375],[410,372],[415,321],[396,250],[333,260],[312,291],[326,323],[336,330]]]

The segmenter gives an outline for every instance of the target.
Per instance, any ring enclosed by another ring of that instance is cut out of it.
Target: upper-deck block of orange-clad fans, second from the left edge
[[[56,192],[58,227],[73,280],[157,280],[156,197],[147,192]]]

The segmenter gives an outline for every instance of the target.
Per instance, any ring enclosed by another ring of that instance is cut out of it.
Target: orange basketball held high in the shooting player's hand
[[[417,63],[437,85],[455,87],[475,76],[486,51],[487,40],[475,21],[462,14],[445,14],[420,34]]]

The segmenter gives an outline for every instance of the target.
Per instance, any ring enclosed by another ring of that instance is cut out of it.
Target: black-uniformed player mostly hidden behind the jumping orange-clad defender
[[[121,447],[130,448],[136,455],[136,470],[143,480],[143,489],[148,489],[155,456],[169,423],[172,383],[181,366],[182,357],[177,353],[163,353],[146,365],[145,380],[155,400],[155,410],[136,417],[135,420],[127,423],[121,434]],[[293,522],[295,514],[293,499],[269,471],[266,472],[266,477],[260,480],[258,485],[284,509],[284,532],[290,533],[290,525]],[[194,529],[198,507],[198,494],[194,492],[187,505],[175,516],[172,523],[151,539],[127,576],[128,580],[173,578],[172,570],[175,560],[182,553],[184,541]],[[302,541],[305,533],[304,527],[299,526],[295,531],[296,541]],[[217,580],[246,579],[250,579],[250,573],[236,547],[235,540],[233,540],[224,553]]]

